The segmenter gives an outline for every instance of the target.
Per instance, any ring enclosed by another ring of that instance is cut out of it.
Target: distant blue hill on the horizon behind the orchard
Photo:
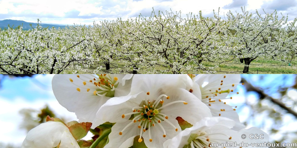
[[[23,30],[29,30],[29,29],[32,29],[32,27],[30,26],[30,24],[32,24],[32,26],[35,28],[35,26],[37,26],[37,23],[34,23],[34,22],[25,22],[25,21],[22,21],[22,20],[0,20],[0,28],[2,30],[4,30],[5,28],[7,29],[8,28],[8,25],[10,25],[10,27],[13,26],[13,28],[16,28],[18,27],[19,25],[22,25],[23,24]],[[52,27],[55,27],[55,28],[65,28],[65,25],[57,25],[57,24],[41,24],[41,26],[43,28],[52,28]]]

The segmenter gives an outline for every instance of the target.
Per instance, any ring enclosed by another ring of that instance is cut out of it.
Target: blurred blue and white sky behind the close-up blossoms
[[[254,86],[260,86],[263,88],[270,87],[270,91],[265,93],[274,95],[275,90],[278,86],[292,86],[294,82],[295,75],[241,75],[243,78],[247,79]],[[284,76],[287,79],[284,79]],[[26,131],[20,129],[22,124],[22,116],[19,111],[23,108],[30,108],[33,110],[40,110],[46,104],[54,110],[56,115],[64,117],[66,122],[77,120],[76,116],[72,112],[68,112],[64,107],[62,107],[58,101],[55,99],[51,88],[51,80],[53,75],[35,75],[33,78],[29,77],[8,77],[5,75],[0,75],[1,88],[0,88],[0,125],[10,125],[10,128],[5,126],[0,126],[0,143],[14,143],[15,146],[19,146],[23,139],[26,137]],[[261,81],[260,81],[261,80]],[[262,81],[263,80],[263,81]],[[245,102],[245,98],[248,98],[250,103],[257,102],[257,97],[253,93],[245,92],[244,86],[239,85],[235,92],[239,94],[233,94],[232,100],[227,99],[225,102],[231,106],[238,106],[237,112],[241,122],[246,121],[250,116],[249,108],[246,106],[240,107],[242,103]],[[292,97],[295,96],[297,101],[297,92],[292,91]],[[277,98],[277,96],[275,96]],[[294,99],[294,98],[293,98]],[[284,115],[285,119],[288,121],[294,120],[290,115]],[[264,118],[263,115],[259,115],[256,118]],[[271,124],[268,121],[266,124]],[[296,130],[294,126],[295,122],[288,122],[284,131]],[[251,126],[260,126],[254,121],[251,121],[248,128]],[[91,137],[91,135],[89,135]],[[1,144],[0,144],[1,145]]]

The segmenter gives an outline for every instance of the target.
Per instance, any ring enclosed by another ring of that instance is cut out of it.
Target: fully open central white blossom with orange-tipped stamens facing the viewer
[[[121,102],[112,98],[98,111],[103,120],[116,123],[105,147],[130,147],[138,135],[138,142],[143,138],[147,147],[162,147],[167,139],[181,131],[177,117],[189,123],[211,117],[210,110],[200,99],[182,89],[186,86],[181,81],[183,77],[135,75],[131,94],[138,94],[122,98]]]

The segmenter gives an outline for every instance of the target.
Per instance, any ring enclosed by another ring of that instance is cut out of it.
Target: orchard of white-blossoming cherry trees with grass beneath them
[[[0,73],[297,73],[297,18],[244,8],[218,16],[153,10],[63,29],[38,20],[0,30]]]

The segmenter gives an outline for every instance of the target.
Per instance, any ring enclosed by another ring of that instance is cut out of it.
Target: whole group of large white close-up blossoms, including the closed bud
[[[108,140],[99,147],[208,148],[214,143],[267,142],[265,132],[245,129],[236,107],[224,102],[235,99],[229,94],[238,94],[240,80],[240,75],[55,75],[52,87],[58,102],[75,112],[78,122],[91,123],[91,129],[111,125]],[[40,126],[51,130],[32,129],[23,147],[36,147],[42,141],[55,141],[50,148],[59,143],[61,147],[78,140],[67,134],[66,126],[49,122]],[[242,139],[242,134],[263,139]],[[44,135],[51,136],[40,138]]]

